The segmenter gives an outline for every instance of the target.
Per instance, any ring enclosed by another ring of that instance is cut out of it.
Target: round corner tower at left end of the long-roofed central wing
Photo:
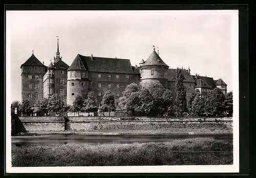
[[[84,67],[82,60],[84,57],[77,55],[71,66],[68,68],[67,80],[67,104],[73,105],[77,95],[86,98],[89,91],[89,72]]]

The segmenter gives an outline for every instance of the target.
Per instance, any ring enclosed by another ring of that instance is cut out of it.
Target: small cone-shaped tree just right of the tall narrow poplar
[[[198,90],[199,91],[199,90]],[[189,108],[189,112],[191,115],[201,116],[204,113],[204,98],[202,98],[200,91],[195,92],[195,98],[192,101],[191,107]]]

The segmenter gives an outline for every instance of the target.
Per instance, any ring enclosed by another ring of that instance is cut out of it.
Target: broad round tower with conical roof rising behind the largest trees
[[[141,82],[159,81],[167,88],[167,74],[169,66],[166,65],[154,50],[146,61],[140,62]]]

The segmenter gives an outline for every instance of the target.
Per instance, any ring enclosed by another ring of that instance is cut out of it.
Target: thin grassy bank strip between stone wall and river
[[[66,130],[66,131],[31,131],[26,134],[78,134],[78,135],[90,135],[90,134],[135,134],[135,135],[149,135],[149,134],[232,134],[232,128],[173,128],[173,129],[156,129],[156,130],[83,130],[83,131],[75,131],[75,130]]]

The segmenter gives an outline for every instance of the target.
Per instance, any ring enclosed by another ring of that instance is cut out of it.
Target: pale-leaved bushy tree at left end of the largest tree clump
[[[126,86],[122,97],[119,98],[120,106],[126,113],[134,115],[139,103],[139,93],[141,86],[131,83]]]

